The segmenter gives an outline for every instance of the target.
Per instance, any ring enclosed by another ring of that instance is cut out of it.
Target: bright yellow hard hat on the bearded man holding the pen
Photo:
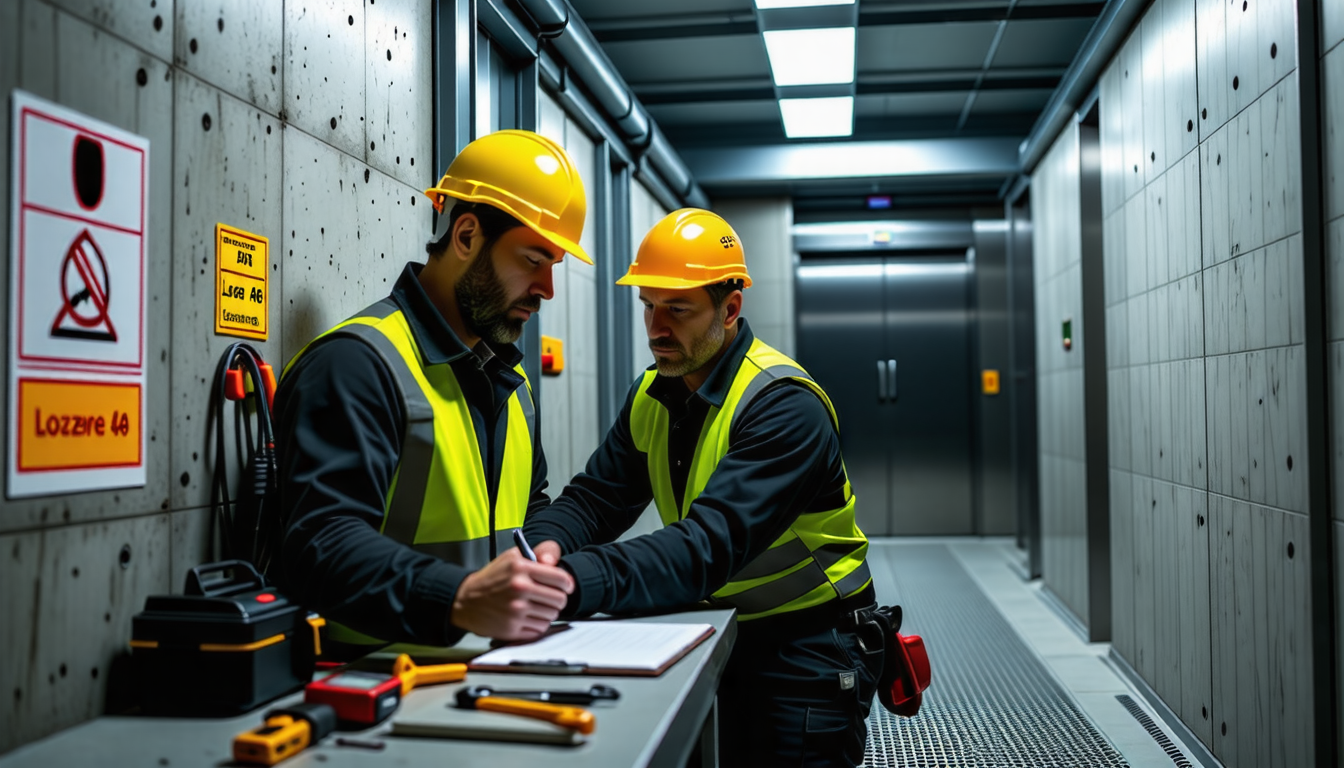
[[[434,210],[444,198],[485,203],[512,215],[579,261],[587,196],[564,148],[531,130],[497,130],[457,153],[438,186],[425,190]]]

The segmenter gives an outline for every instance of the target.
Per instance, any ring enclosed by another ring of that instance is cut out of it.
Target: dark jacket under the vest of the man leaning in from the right
[[[668,459],[679,506],[704,418],[711,405],[723,405],[753,338],[746,320],[739,321],[737,338],[695,393],[680,377],[659,377],[649,387],[669,412]],[[831,414],[804,385],[785,379],[739,406],[728,453],[685,519],[616,542],[653,499],[648,457],[630,437],[638,385],[636,379],[585,471],[523,529],[534,545],[560,545],[560,565],[577,584],[567,616],[640,613],[704,600],[801,512],[845,503],[840,436]]]

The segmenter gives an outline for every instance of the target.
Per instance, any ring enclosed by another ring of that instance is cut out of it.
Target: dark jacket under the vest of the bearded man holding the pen
[[[482,447],[491,504],[499,491],[507,420],[523,377],[513,344],[491,344],[482,363],[448,325],[409,264],[391,300],[405,312],[429,364],[450,363]],[[383,638],[448,646],[464,631],[449,623],[468,569],[379,534],[396,472],[406,416],[396,381],[364,342],[329,336],[313,343],[276,393],[276,452],[288,525],[276,570],[292,599],[347,627]],[[538,428],[540,434],[540,409]],[[547,503],[546,457],[532,447],[528,511]],[[495,554],[495,553],[492,553]]]

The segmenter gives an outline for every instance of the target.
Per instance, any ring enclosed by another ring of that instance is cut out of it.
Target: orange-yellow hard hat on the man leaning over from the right
[[[751,285],[742,241],[723,217],[681,208],[663,217],[644,235],[634,264],[617,285],[699,288],[726,280]]]

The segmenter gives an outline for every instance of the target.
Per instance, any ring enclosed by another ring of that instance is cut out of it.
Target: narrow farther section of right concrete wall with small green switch
[[[1082,231],[1078,126],[1070,124],[1032,175],[1036,239],[1036,387],[1042,578],[1087,616],[1087,455],[1083,445]],[[1073,347],[1063,347],[1071,321]]]

